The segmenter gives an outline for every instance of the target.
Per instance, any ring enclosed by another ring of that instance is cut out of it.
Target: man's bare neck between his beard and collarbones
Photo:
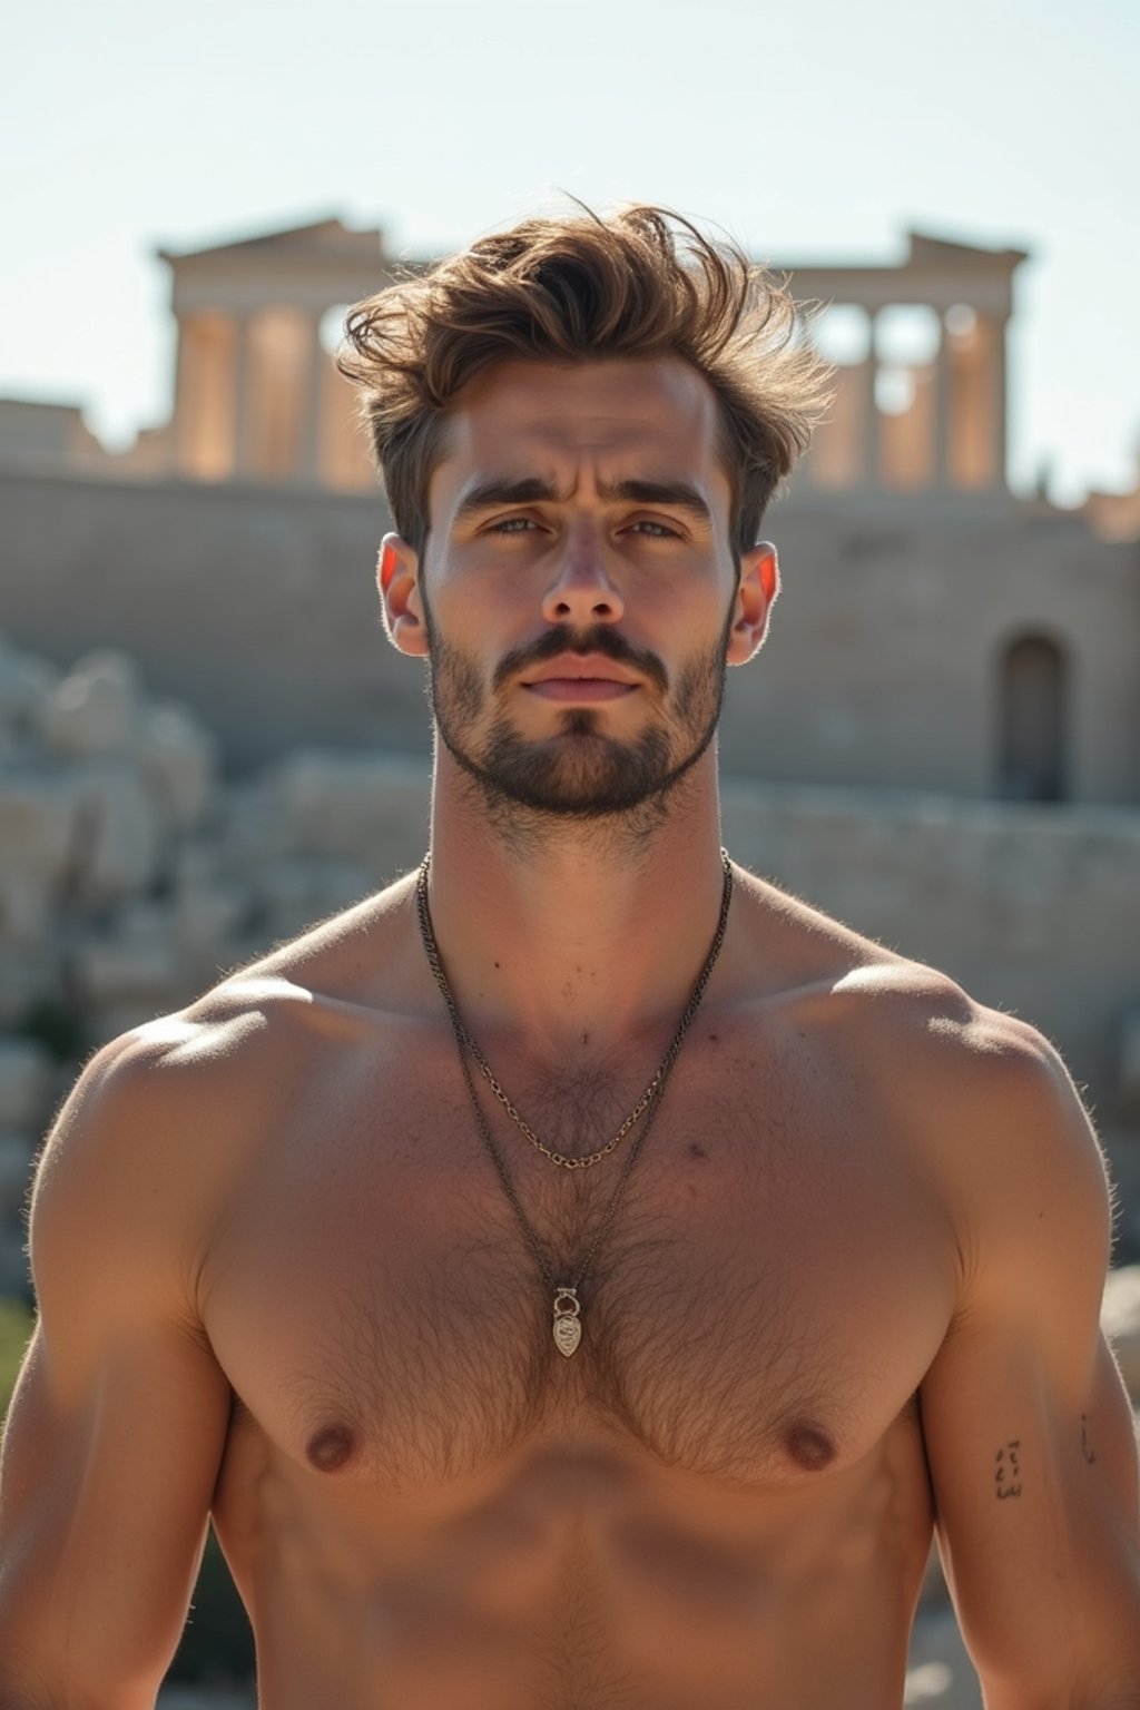
[[[554,1065],[668,1031],[721,893],[714,752],[641,824],[511,824],[438,754],[431,913],[460,1014],[489,1045]]]

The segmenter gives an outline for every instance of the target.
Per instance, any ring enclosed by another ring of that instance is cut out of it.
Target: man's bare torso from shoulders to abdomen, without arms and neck
[[[207,1060],[186,1052],[219,1159],[202,1324],[234,1390],[215,1520],[267,1710],[901,1700],[931,1536],[918,1387],[959,1255],[868,1005],[925,1016],[931,987],[781,905],[737,898],[737,973],[690,1029],[569,1359],[400,956],[366,990],[326,934],[231,1011],[231,1045],[215,1021]],[[397,910],[376,934],[405,929]],[[496,1069],[581,1153],[641,1093],[644,1047],[542,1082]],[[477,1086],[571,1281],[632,1137],[555,1170]]]

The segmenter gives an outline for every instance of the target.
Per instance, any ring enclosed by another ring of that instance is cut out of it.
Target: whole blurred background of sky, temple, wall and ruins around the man
[[[1061,1048],[1135,1361],[1133,0],[58,0],[9,36],[0,1380],[84,1055],[422,852],[422,677],[379,629],[388,518],[330,352],[393,270],[567,193],[668,203],[827,304],[726,841]],[[176,1676],[248,1669],[212,1549]],[[978,1703],[937,1577],[908,1701]]]

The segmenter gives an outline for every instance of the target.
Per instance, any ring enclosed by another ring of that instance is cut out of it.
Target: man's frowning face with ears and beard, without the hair
[[[663,799],[759,643],[704,380],[677,359],[504,363],[450,416],[429,515],[388,617],[429,657],[455,761],[545,814]]]

